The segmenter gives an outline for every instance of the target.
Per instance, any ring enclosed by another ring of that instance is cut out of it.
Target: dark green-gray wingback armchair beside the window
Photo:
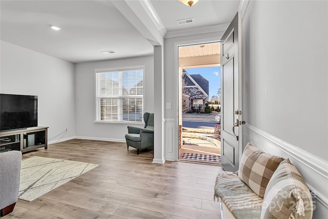
[[[125,135],[127,147],[129,146],[137,149],[154,147],[154,113],[145,112],[144,114],[145,127],[138,128],[128,126],[128,134]]]

